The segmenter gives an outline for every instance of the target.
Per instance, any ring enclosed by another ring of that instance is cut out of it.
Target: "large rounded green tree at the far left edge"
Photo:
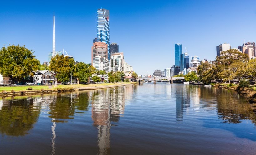
[[[0,50],[0,74],[4,77],[16,78],[20,82],[23,78],[33,76],[38,70],[40,61],[35,58],[32,50],[24,46],[3,46]]]

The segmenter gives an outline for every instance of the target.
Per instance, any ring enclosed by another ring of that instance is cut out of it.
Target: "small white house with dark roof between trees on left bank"
[[[49,70],[34,71],[34,84],[57,84],[56,75]]]

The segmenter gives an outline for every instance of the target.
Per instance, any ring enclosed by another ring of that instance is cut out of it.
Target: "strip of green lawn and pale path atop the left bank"
[[[89,84],[89,85],[32,85],[32,86],[3,86],[0,87],[0,94],[8,94],[8,93],[18,93],[18,92],[33,92],[33,91],[47,91],[47,90],[53,90],[57,91],[60,89],[66,89],[66,90],[72,90],[77,88],[97,88],[99,87],[106,87],[106,86],[119,86],[124,84],[131,84],[131,82],[123,82],[123,83],[102,83],[102,84]],[[28,88],[32,88],[32,90],[28,90]]]

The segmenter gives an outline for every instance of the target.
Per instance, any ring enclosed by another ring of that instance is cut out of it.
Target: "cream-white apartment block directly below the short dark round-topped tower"
[[[124,71],[124,54],[116,53],[110,56],[110,71]]]

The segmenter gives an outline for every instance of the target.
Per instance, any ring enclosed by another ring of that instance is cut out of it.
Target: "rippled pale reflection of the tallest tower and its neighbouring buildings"
[[[131,99],[133,87],[118,87],[92,91],[92,120],[98,130],[98,154],[110,154],[111,122],[124,114],[125,99]]]

